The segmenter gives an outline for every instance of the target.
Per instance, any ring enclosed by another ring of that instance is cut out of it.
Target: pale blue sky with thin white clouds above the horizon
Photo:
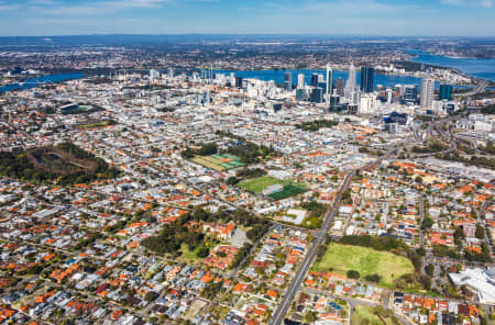
[[[495,0],[0,0],[0,36],[495,36]]]

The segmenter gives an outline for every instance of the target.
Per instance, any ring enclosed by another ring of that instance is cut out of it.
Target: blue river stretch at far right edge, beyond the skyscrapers
[[[451,67],[470,76],[495,82],[495,58],[449,57],[413,49],[407,53],[416,56],[411,61],[440,67]]]

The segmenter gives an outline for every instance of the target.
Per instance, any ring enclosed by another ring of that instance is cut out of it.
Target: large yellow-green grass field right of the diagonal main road
[[[355,270],[360,272],[361,279],[374,273],[380,274],[382,277],[380,284],[387,288],[395,288],[395,279],[415,271],[411,261],[406,257],[336,243],[330,244],[321,261],[314,265],[314,269],[320,272],[329,271],[330,268],[340,274]]]

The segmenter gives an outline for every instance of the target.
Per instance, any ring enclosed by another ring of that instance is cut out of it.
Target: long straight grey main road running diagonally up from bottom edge
[[[339,193],[336,197],[332,208],[324,215],[323,223],[321,225],[320,231],[316,234],[316,238],[312,242],[311,248],[309,249],[308,254],[306,255],[305,259],[302,260],[302,264],[300,265],[299,269],[297,270],[295,278],[290,282],[287,291],[285,292],[284,296],[282,298],[282,301],[278,304],[277,310],[273,314],[273,317],[272,317],[272,321],[270,324],[272,324],[272,325],[282,324],[285,315],[287,314],[290,302],[294,300],[294,296],[296,295],[297,291],[299,291],[299,288],[302,284],[302,281],[304,281],[306,274],[309,271],[312,260],[316,257],[318,246],[320,246],[321,244],[324,243],[324,239],[327,237],[328,232],[330,231],[330,227],[333,223],[336,214],[339,211],[340,202],[342,200],[342,193],[349,189],[349,186],[351,184],[353,176],[354,176],[354,171],[352,171],[345,176],[345,179],[342,183],[342,187],[339,190]]]

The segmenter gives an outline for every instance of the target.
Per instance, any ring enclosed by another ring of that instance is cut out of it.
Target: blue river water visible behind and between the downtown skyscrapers
[[[312,74],[321,74],[326,76],[326,70],[255,70],[255,71],[234,71],[234,70],[218,70],[217,74],[224,74],[230,76],[231,72],[234,72],[237,77],[242,78],[256,78],[264,81],[273,80],[276,83],[284,83],[284,75],[286,71],[290,71],[293,74],[293,83],[297,83],[297,75],[305,75],[306,85],[311,83]],[[342,70],[333,70],[333,82],[338,78],[342,78],[344,80],[348,79],[348,71]],[[356,80],[358,85],[361,80],[361,74],[356,71]],[[375,72],[375,89],[376,86],[382,85],[384,87],[394,88],[396,85],[418,85],[418,88],[421,86],[421,79],[410,76],[396,76],[396,75],[381,75]],[[440,88],[440,82],[435,83],[436,88]],[[453,86],[453,88],[459,89],[468,89],[473,88],[471,86]]]

